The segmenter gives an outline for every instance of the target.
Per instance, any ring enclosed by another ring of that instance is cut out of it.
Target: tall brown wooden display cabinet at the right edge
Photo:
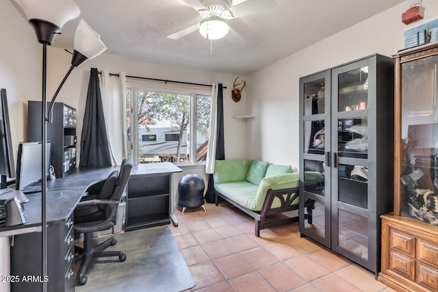
[[[394,59],[394,213],[381,216],[378,278],[397,291],[438,291],[438,44]]]

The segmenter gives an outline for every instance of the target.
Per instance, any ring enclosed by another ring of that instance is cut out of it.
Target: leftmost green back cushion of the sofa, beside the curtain
[[[248,159],[231,159],[214,161],[214,183],[244,181],[248,172]]]

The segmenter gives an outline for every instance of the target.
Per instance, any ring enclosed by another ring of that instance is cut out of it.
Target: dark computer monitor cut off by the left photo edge
[[[6,97],[6,90],[4,88],[1,88],[0,98],[0,189],[4,189],[10,183],[14,183],[14,181],[7,183],[7,177],[15,177],[15,165],[9,121],[8,98]]]

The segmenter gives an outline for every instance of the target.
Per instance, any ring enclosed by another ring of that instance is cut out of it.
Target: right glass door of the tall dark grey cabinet
[[[368,59],[332,71],[333,151],[331,209],[332,249],[367,266],[368,207]],[[372,76],[370,74],[370,76]],[[374,76],[374,75],[373,75]],[[370,152],[371,153],[371,152]]]

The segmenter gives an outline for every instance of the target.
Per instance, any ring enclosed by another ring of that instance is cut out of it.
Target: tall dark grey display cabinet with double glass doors
[[[394,61],[372,55],[300,79],[300,233],[378,273],[392,209]],[[311,224],[304,202],[315,201]]]

